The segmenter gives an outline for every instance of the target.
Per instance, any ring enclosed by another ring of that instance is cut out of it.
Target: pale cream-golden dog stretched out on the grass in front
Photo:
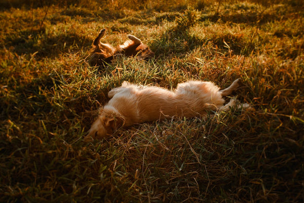
[[[210,111],[227,110],[236,105],[236,101],[231,99],[223,105],[223,96],[238,88],[238,81],[239,79],[235,80],[224,90],[219,90],[212,82],[188,81],[178,84],[173,91],[123,82],[121,87],[108,92],[111,99],[99,110],[99,116],[84,141],[107,137],[120,127],[137,123],[173,116],[205,117]]]

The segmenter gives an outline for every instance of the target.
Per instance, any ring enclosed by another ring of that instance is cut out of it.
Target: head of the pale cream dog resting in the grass
[[[92,124],[88,135],[84,138],[84,141],[90,142],[94,139],[108,137],[123,125],[124,119],[122,117],[102,112]]]

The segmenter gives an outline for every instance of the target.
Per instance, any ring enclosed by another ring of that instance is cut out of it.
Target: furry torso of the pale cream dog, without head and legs
[[[193,86],[177,92],[159,87],[130,86],[115,94],[109,104],[125,117],[125,126],[173,116],[202,117],[207,111],[216,110],[223,104],[224,100],[217,91]]]

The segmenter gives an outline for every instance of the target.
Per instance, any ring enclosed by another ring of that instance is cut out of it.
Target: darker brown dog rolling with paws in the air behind
[[[149,47],[133,35],[128,35],[123,45],[114,48],[110,44],[101,43],[100,39],[105,35],[106,29],[101,29],[97,38],[93,41],[92,53],[89,55],[90,65],[105,66],[118,55],[137,56],[139,60],[147,60],[154,56]]]

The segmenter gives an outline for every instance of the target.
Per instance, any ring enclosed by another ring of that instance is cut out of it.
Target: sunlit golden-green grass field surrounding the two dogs
[[[301,1],[0,3],[0,202],[304,202]],[[155,52],[84,59],[135,35]],[[83,142],[107,92],[189,79],[254,110],[173,119]]]

